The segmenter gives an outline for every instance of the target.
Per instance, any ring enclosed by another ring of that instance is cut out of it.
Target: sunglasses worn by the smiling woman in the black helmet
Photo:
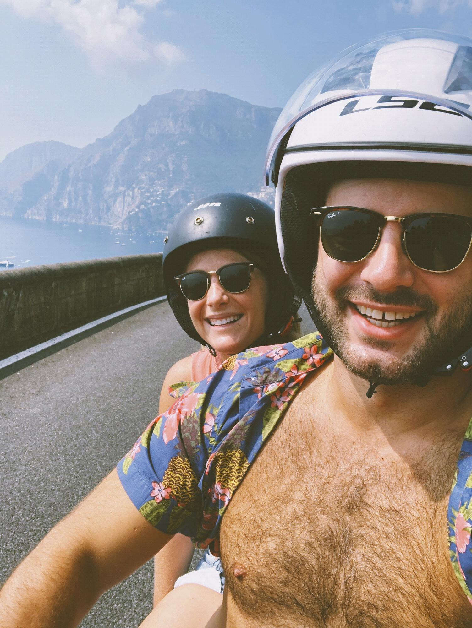
[[[237,294],[248,290],[251,283],[251,273],[255,268],[259,268],[259,266],[251,262],[236,262],[235,264],[225,264],[217,271],[208,271],[208,273],[206,271],[190,271],[178,275],[174,279],[187,300],[199,301],[204,298],[210,288],[212,274],[217,275],[223,290]]]

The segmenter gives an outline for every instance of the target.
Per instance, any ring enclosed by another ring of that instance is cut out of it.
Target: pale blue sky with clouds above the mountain
[[[472,0],[0,0],[0,160],[85,146],[175,88],[282,107],[346,46],[418,27],[472,36]]]

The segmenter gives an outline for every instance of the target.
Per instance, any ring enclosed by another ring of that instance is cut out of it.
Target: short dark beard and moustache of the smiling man
[[[410,384],[425,381],[425,377],[436,367],[457,357],[461,351],[472,345],[472,282],[464,286],[464,296],[460,300],[454,300],[453,308],[441,317],[437,303],[430,296],[420,295],[409,288],[400,288],[394,293],[381,293],[366,284],[346,286],[339,288],[332,298],[326,283],[317,279],[316,270],[312,293],[320,331],[326,335],[332,350],[349,371],[368,382]],[[377,350],[385,350],[385,359],[361,356],[349,341],[346,327],[346,309],[348,302],[353,300],[424,310],[424,332],[402,359],[389,353],[389,349],[393,347],[392,342],[368,336],[363,338],[365,344]]]

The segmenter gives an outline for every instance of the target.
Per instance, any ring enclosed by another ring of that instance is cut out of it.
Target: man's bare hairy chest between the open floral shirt
[[[306,419],[289,409],[222,521],[239,623],[472,625],[447,547],[455,443],[409,465]]]

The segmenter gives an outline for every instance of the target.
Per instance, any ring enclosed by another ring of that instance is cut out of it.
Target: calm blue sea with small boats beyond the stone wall
[[[158,253],[163,249],[164,237],[162,232],[124,232],[96,225],[0,216],[0,272],[39,264]]]

